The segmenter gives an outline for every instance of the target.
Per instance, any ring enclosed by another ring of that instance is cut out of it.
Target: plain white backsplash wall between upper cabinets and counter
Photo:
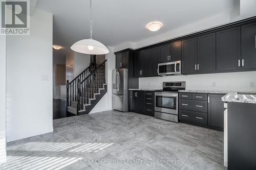
[[[256,91],[256,71],[139,78],[139,88],[161,89],[165,81],[185,81],[190,90]]]

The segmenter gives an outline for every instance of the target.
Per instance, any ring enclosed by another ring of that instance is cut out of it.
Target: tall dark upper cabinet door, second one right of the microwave
[[[198,72],[210,73],[216,71],[216,33],[199,36],[198,42]]]

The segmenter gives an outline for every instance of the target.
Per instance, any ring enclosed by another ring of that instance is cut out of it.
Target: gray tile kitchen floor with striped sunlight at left
[[[53,126],[52,133],[8,143],[0,169],[226,169],[220,131],[118,111]]]

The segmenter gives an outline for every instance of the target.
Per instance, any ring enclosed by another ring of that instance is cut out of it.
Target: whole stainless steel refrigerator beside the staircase
[[[128,69],[112,70],[112,108],[123,112],[128,111]]]

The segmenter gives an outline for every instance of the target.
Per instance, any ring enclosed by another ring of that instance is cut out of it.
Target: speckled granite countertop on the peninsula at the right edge
[[[256,92],[242,92],[242,94],[240,93],[230,92],[224,95],[221,98],[221,100],[223,102],[255,103],[256,104]]]

